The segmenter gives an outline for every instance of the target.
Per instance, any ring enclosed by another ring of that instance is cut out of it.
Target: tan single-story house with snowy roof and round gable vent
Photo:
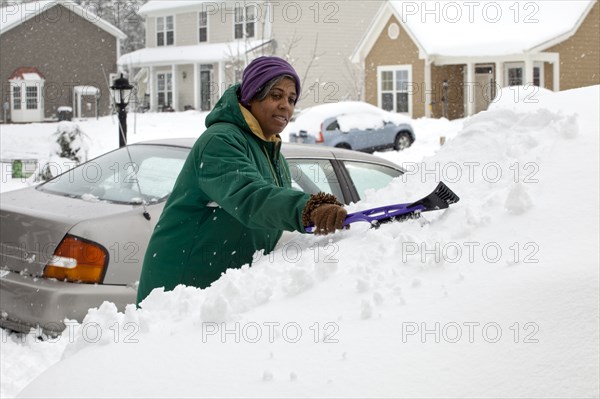
[[[597,1],[389,1],[352,61],[367,102],[454,119],[487,109],[503,87],[599,84],[599,24]]]

